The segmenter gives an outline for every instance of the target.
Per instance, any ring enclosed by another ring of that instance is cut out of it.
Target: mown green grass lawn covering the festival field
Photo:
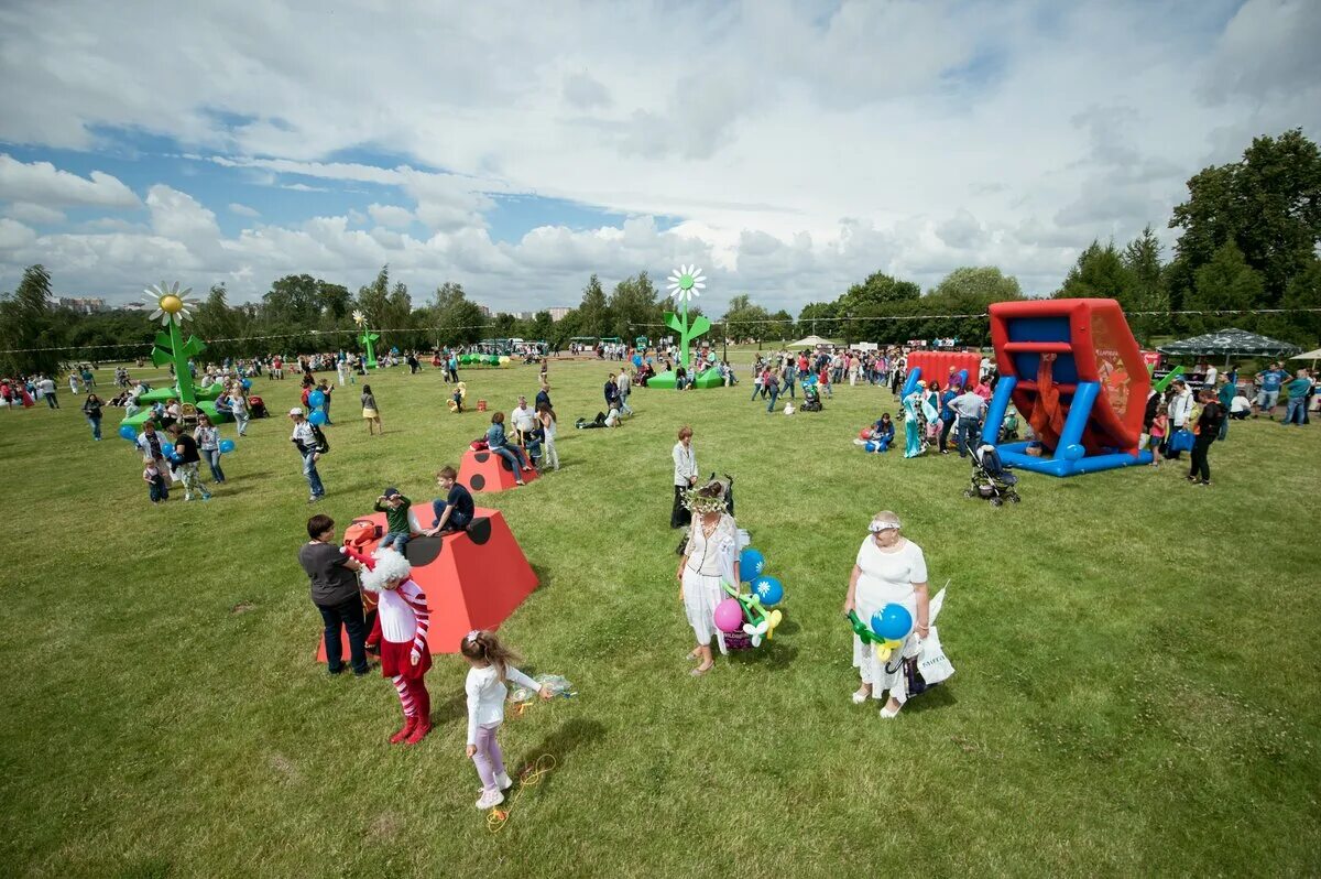
[[[746,375],[749,356],[740,356]],[[888,393],[768,415],[732,390],[647,391],[616,431],[602,363],[552,363],[564,469],[478,496],[542,586],[501,629],[573,699],[510,716],[514,765],[557,767],[493,835],[464,757],[465,665],[428,675],[437,723],[388,747],[379,673],[329,678],[296,550],[306,484],[285,418],[254,422],[209,504],[153,509],[107,418],[0,411],[11,522],[0,695],[0,871],[34,876],[951,876],[1321,872],[1321,426],[1234,423],[1215,485],[1176,467],[1055,480],[1018,506],[964,500],[956,456],[864,456]],[[102,370],[103,383],[110,370]],[[513,407],[536,371],[464,374]],[[387,485],[431,497],[487,426],[427,370],[371,377],[369,438],[336,395],[317,512],[342,526]],[[276,414],[297,382],[258,379]],[[758,652],[688,677],[670,448],[736,476],[738,522],[783,580]],[[232,426],[225,428],[232,436]],[[203,468],[205,469],[205,468]],[[898,719],[849,702],[840,617],[880,509],[951,580],[958,666]],[[1312,530],[1309,530],[1309,527]]]

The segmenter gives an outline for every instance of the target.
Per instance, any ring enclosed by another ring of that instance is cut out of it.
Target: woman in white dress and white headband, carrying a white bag
[[[869,698],[880,699],[882,693],[889,691],[890,698],[881,707],[881,716],[893,718],[908,701],[904,660],[918,654],[921,638],[929,632],[926,558],[917,543],[900,533],[900,517],[889,510],[877,513],[868,530],[871,534],[857,550],[853,574],[848,578],[844,613],[857,611],[859,619],[869,624],[873,613],[893,603],[908,609],[914,627],[904,645],[893,652],[863,644],[853,636],[853,666],[863,679],[853,702],[861,705]],[[889,656],[882,658],[886,653]]]

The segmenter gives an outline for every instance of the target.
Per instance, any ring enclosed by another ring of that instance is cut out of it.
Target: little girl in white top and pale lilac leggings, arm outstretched
[[[460,652],[468,660],[468,681],[464,691],[468,694],[468,756],[477,764],[477,775],[482,780],[482,796],[478,809],[490,809],[505,802],[505,790],[514,786],[514,780],[505,771],[505,755],[499,749],[495,735],[505,723],[505,698],[509,695],[506,681],[540,693],[543,699],[553,694],[511,664],[518,658],[499,642],[491,632],[474,629],[464,636]]]

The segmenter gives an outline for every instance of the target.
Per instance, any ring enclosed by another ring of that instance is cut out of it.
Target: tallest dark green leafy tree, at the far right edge
[[[1182,230],[1170,274],[1176,304],[1193,292],[1197,271],[1234,241],[1273,307],[1321,243],[1321,151],[1301,130],[1255,137],[1242,161],[1194,174],[1188,196],[1169,221]]]

